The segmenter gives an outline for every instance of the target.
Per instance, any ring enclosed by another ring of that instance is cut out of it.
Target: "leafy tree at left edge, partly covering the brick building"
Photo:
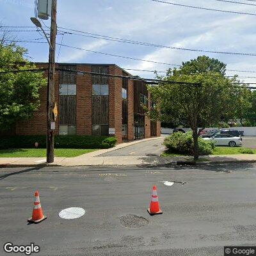
[[[0,34],[0,72],[37,67],[24,57],[27,50]],[[47,84],[42,72],[0,74],[0,129],[31,118],[40,106],[39,90]]]

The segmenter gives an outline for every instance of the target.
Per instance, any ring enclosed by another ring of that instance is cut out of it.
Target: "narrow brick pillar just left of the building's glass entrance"
[[[128,81],[128,140],[134,140],[134,83]]]

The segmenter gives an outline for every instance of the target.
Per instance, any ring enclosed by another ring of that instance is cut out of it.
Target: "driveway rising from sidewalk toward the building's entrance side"
[[[164,150],[164,136],[157,140],[141,141],[129,147],[120,148],[100,156],[160,156]]]

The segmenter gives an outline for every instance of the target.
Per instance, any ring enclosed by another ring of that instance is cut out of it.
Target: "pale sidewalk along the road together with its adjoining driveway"
[[[193,161],[193,157],[161,157],[163,137],[149,138],[116,145],[77,157],[55,157],[53,166],[131,166],[177,164],[177,161]],[[255,162],[256,155],[203,156],[199,164]],[[45,166],[44,157],[0,157],[0,167]]]

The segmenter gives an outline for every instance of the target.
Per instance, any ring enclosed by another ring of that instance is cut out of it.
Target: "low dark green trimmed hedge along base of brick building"
[[[46,147],[45,135],[33,136],[3,136],[0,137],[0,149],[7,148],[38,148]],[[56,135],[55,148],[111,148],[116,144],[115,137],[83,136],[83,135]]]

